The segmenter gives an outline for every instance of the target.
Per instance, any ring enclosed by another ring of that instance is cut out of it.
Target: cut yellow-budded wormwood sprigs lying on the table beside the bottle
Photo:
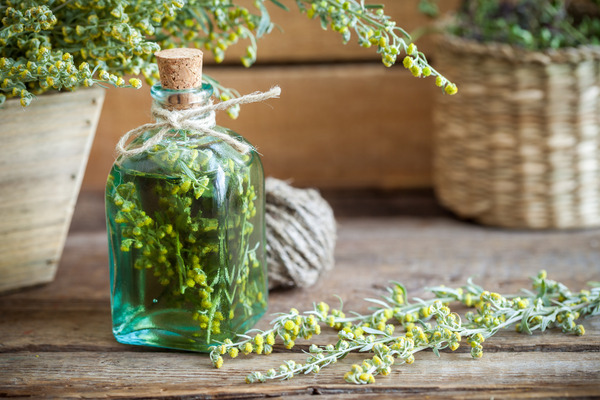
[[[304,314],[293,309],[288,314],[280,314],[269,330],[251,331],[241,335],[237,343],[228,340],[213,348],[211,360],[220,368],[223,365],[221,355],[225,353],[232,357],[237,356],[240,350],[250,354],[252,343],[261,342],[265,334],[269,338],[268,353],[272,352],[277,337],[291,348],[294,345],[291,337],[310,338],[312,334],[319,334],[320,324],[327,324],[338,330],[335,344],[313,344],[304,363],[288,360],[277,369],[252,372],[246,381],[266,382],[318,373],[349,353],[359,352],[371,353],[372,356],[360,365],[352,365],[344,379],[349,383],[368,384],[373,383],[377,375],[388,375],[394,364],[412,364],[419,351],[431,349],[439,356],[440,350],[458,349],[463,339],[471,349],[471,356],[481,358],[485,340],[510,326],[515,326],[518,332],[529,334],[535,330],[561,328],[564,333],[581,336],[585,329],[576,321],[584,316],[600,314],[600,283],[590,285],[590,290],[573,293],[562,283],[547,279],[545,271],[541,271],[533,277],[533,290],[524,290],[519,296],[489,292],[469,280],[465,286],[456,289],[443,286],[428,288],[435,298],[415,299],[410,303],[404,287],[394,283],[382,300],[367,299],[377,304],[371,314],[351,313],[353,316],[346,317],[341,307],[329,312],[329,306],[323,302]],[[452,302],[475,310],[467,312],[463,322],[449,308]],[[308,332],[305,326],[308,320],[310,334],[303,335],[302,332]],[[396,325],[403,328],[403,333],[396,333]],[[256,335],[250,336],[253,333]]]

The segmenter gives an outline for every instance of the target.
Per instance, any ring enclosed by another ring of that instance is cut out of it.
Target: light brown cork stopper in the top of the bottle
[[[202,86],[202,51],[168,49],[154,54],[164,89],[194,89]]]

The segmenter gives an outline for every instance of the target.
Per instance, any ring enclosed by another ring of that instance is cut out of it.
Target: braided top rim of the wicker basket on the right
[[[449,33],[439,35],[437,43],[439,46],[443,46],[446,52],[467,53],[482,58],[501,59],[514,64],[579,63],[586,60],[600,60],[599,45],[532,51],[506,43],[482,43]]]

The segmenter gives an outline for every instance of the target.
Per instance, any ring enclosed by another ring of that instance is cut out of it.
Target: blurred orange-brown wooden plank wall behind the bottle
[[[217,122],[240,133],[262,154],[265,173],[296,186],[319,188],[423,188],[431,186],[431,103],[442,93],[433,78],[416,79],[401,62],[381,64],[374,48],[343,45],[317,20],[270,6],[281,27],[258,42],[258,62],[239,63],[245,44],[232,47],[223,64],[205,55],[204,72],[240,93],[282,89],[281,99],[242,107],[232,121]],[[409,32],[430,21],[418,0],[373,0]],[[457,6],[445,0],[443,9]],[[435,66],[431,38],[418,41]],[[452,79],[452,77],[449,77]],[[103,190],[119,137],[151,121],[148,85],[109,89],[82,190]]]

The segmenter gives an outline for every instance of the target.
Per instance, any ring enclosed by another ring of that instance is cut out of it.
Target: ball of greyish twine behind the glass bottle
[[[267,178],[266,235],[269,288],[306,287],[333,268],[336,223],[314,189]]]

